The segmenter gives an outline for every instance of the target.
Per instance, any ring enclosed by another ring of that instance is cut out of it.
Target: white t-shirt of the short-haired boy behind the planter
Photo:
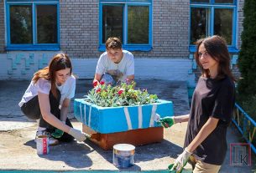
[[[111,59],[107,57],[107,52],[102,53],[100,59],[97,62],[96,73],[109,73],[111,70],[119,70],[121,73],[123,73],[123,76],[120,80],[125,82],[127,76],[134,74],[133,54],[127,50],[123,50],[123,59],[120,61],[120,63],[115,64]]]

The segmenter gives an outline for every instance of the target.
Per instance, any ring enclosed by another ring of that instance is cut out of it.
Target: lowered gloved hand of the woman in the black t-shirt
[[[186,165],[187,160],[190,158],[191,154],[192,153],[185,148],[181,155],[179,155],[175,160],[175,164],[170,170],[176,170],[177,173],[180,173],[183,167]]]

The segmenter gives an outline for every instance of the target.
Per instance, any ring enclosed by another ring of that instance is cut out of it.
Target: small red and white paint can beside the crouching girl
[[[49,137],[47,135],[39,135],[36,138],[36,150],[38,155],[47,155],[50,152]]]

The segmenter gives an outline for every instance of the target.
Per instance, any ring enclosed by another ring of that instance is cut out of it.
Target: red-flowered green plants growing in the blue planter
[[[158,102],[156,94],[149,94],[147,89],[135,90],[135,82],[117,86],[97,84],[86,95],[86,101],[102,107],[133,106]]]

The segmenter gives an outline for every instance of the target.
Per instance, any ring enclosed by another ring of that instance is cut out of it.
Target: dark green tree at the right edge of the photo
[[[241,79],[238,81],[238,103],[248,114],[256,118],[256,1],[245,0],[243,7],[242,46],[238,67]],[[253,105],[254,104],[254,105]]]

